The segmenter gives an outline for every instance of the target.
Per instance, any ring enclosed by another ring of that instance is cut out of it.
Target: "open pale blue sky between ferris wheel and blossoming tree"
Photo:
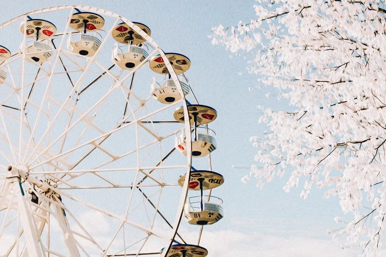
[[[255,16],[249,1],[2,1],[3,23],[28,11],[55,5],[89,5],[116,12],[133,22],[146,24],[151,37],[164,52],[189,57],[185,73],[201,104],[217,109],[210,124],[217,134],[218,148],[212,154],[213,171],[224,175],[225,183],[213,191],[224,201],[225,217],[204,228],[201,245],[208,256],[353,256],[360,249],[341,250],[342,240],[333,242],[327,229],[339,228],[334,217],[341,215],[337,198],[324,199],[313,188],[307,199],[301,189],[285,193],[288,175],[274,178],[263,189],[252,179],[242,183],[254,155],[249,138],[262,136],[266,128],[257,123],[261,111],[256,105],[275,110],[288,109],[270,88],[249,91],[257,84],[256,75],[245,71],[242,58],[213,46],[207,35],[219,24],[225,27]],[[239,73],[242,73],[241,76]],[[271,98],[265,95],[270,93]],[[276,96],[276,97],[275,97]],[[241,167],[233,169],[232,166]],[[302,183],[300,183],[302,185]]]

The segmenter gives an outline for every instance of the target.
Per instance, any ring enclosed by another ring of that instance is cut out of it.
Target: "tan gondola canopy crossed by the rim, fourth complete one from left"
[[[182,74],[190,68],[190,60],[179,53],[165,53],[176,74]],[[161,56],[154,57],[150,63],[150,68],[158,74],[169,74],[169,70]]]

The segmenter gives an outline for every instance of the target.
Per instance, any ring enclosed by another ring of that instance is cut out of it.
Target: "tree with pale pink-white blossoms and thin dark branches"
[[[259,0],[257,19],[213,28],[212,43],[244,56],[260,85],[293,112],[264,109],[252,137],[258,164],[245,179],[338,196],[348,245],[380,255],[386,225],[386,10],[382,1]],[[315,186],[314,186],[315,185]]]

